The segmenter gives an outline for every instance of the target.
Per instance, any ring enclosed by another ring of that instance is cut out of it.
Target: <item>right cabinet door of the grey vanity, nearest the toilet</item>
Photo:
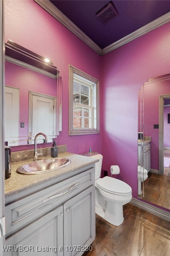
[[[64,256],[82,255],[95,239],[95,186],[63,204]],[[76,247],[80,246],[80,247]]]

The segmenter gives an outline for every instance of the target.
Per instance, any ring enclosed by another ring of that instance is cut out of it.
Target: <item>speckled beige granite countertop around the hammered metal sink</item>
[[[22,166],[23,164],[32,162],[32,160],[24,160],[11,163],[11,177],[5,180],[5,198],[18,194],[22,191],[26,191],[50,180],[57,179],[63,175],[74,175],[74,171],[86,167],[90,164],[94,164],[98,161],[91,157],[72,154],[68,152],[58,154],[58,157],[69,158],[71,160],[71,163],[68,166],[63,167],[57,171],[51,171],[41,174],[24,175],[16,172],[16,169],[18,167]],[[39,160],[48,158],[51,157],[39,157]]]

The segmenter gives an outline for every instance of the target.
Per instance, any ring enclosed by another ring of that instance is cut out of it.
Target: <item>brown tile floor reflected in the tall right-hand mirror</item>
[[[164,156],[170,157],[170,150],[164,149]],[[148,173],[144,181],[144,195],[142,199],[170,209],[170,168],[164,167],[164,175]]]

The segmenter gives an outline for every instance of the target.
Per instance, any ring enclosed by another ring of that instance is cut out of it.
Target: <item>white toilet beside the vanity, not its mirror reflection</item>
[[[123,205],[132,199],[131,187],[112,177],[100,178],[103,156],[97,154],[91,157],[99,159],[95,164],[96,214],[119,226],[124,220]]]

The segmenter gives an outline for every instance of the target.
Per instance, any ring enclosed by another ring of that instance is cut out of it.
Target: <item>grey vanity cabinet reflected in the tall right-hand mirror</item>
[[[147,172],[150,171],[150,142],[138,143],[138,165],[141,165]]]

